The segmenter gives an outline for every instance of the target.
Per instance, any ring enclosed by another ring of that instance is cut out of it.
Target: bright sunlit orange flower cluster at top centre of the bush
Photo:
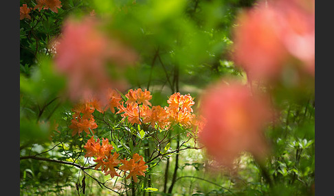
[[[179,123],[187,128],[197,129],[199,122],[196,115],[193,114],[192,106],[194,105],[193,98],[190,95],[181,95],[175,93],[171,95],[167,101],[168,107],[152,106],[149,100],[152,95],[148,90],[142,91],[129,90],[125,95],[128,100],[126,106],[120,104],[119,111],[116,114],[121,114],[123,119],[128,118],[129,123],[150,123],[151,126],[159,125],[160,128],[168,128],[172,124]],[[151,107],[150,107],[151,106]]]

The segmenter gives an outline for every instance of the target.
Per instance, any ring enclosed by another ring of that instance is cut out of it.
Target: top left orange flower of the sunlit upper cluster
[[[135,103],[143,103],[145,106],[152,106],[152,104],[148,101],[152,99],[152,95],[150,95],[150,91],[146,90],[143,92],[141,88],[137,90],[129,90],[129,93],[125,95],[128,100],[125,102],[126,104],[135,104]]]

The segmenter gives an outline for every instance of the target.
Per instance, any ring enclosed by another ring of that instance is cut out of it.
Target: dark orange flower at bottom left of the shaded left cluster
[[[80,133],[82,131],[85,131],[87,134],[90,134],[89,128],[91,129],[91,132],[93,132],[93,130],[96,129],[97,127],[98,125],[95,123],[93,115],[91,115],[89,118],[76,117],[75,119],[71,120],[71,125],[69,125],[69,128],[73,130],[72,136],[74,136],[77,133],[80,136]]]

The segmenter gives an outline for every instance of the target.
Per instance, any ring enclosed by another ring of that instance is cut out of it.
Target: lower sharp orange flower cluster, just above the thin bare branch
[[[98,138],[98,140],[94,140],[92,136],[89,140],[87,140],[84,148],[86,149],[85,157],[96,157],[94,162],[98,164],[96,164],[95,169],[101,168],[104,175],[110,175],[111,177],[120,176],[115,171],[115,167],[122,162],[123,165],[120,166],[120,169],[130,171],[126,179],[129,179],[132,176],[133,180],[137,182],[137,175],[145,176],[144,171],[146,171],[148,166],[145,165],[146,162],[144,162],[143,157],[139,154],[134,154],[133,158],[129,161],[125,158],[124,160],[118,160],[120,154],[117,152],[111,154],[113,146],[109,144],[109,140],[107,138],[102,138],[101,145],[100,139]]]

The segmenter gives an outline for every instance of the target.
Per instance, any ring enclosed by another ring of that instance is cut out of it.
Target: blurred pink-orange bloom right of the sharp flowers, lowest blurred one
[[[200,111],[205,119],[199,142],[209,156],[227,167],[242,151],[264,158],[269,151],[263,131],[268,123],[268,100],[252,95],[247,86],[238,83],[216,84],[201,97]]]

